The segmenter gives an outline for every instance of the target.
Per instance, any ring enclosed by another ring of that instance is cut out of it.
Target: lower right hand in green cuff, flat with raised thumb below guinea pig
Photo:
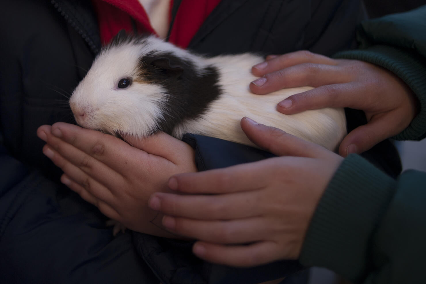
[[[254,123],[254,124],[253,124]],[[300,255],[311,217],[343,158],[319,145],[243,118],[241,127],[280,157],[171,177],[187,195],[154,193],[163,226],[194,238],[207,261],[250,267]]]

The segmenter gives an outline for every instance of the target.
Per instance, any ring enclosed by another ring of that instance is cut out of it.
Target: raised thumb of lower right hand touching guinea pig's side
[[[319,158],[328,154],[320,145],[305,141],[285,131],[259,124],[243,117],[241,128],[251,142],[278,156],[301,156]]]

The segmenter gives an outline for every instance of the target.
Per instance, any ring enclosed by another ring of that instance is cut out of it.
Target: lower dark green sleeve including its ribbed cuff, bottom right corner
[[[300,262],[354,283],[426,283],[425,253],[426,173],[393,180],[352,154],[317,206]]]

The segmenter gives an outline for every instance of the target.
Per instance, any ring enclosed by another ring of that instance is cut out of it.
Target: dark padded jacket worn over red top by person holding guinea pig
[[[67,98],[101,47],[90,1],[5,2],[0,20],[1,283],[257,283],[301,269],[296,261],[233,269],[194,258],[187,242],[130,232],[112,238],[106,218],[59,183],[60,170],[43,156],[44,142],[36,136],[40,125],[73,122]],[[174,1],[173,14],[180,2]],[[189,49],[209,55],[298,49],[332,55],[355,46],[354,31],[363,17],[357,0],[222,0]],[[202,136],[187,135],[185,141],[197,148],[200,170],[270,156]],[[371,155],[385,164],[388,153],[379,149]],[[390,156],[397,171],[397,156]]]

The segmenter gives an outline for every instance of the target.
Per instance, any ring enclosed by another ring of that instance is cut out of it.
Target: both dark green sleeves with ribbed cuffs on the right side
[[[420,113],[395,139],[426,137],[426,6],[363,23],[360,49],[340,52],[380,65],[416,94]],[[354,283],[426,283],[426,173],[396,180],[358,155],[334,174],[311,220],[300,261]]]

